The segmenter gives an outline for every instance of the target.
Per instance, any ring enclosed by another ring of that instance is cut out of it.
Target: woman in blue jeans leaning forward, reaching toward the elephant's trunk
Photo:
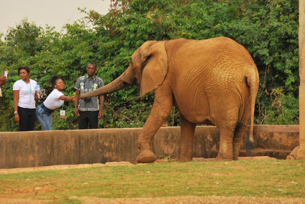
[[[43,130],[52,130],[53,112],[56,108],[62,106],[64,101],[74,100],[74,96],[65,96],[61,92],[65,88],[65,84],[59,76],[53,75],[49,82],[54,90],[36,109],[36,116]]]

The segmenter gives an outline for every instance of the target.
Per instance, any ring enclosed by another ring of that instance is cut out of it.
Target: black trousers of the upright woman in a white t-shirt
[[[35,108],[22,108],[18,106],[19,131],[33,131],[36,120]]]

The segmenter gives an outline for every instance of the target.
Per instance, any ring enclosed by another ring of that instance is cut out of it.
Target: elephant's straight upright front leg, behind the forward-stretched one
[[[193,143],[195,123],[189,122],[180,114],[181,118],[181,136],[180,136],[180,155],[177,161],[186,162],[193,159]]]

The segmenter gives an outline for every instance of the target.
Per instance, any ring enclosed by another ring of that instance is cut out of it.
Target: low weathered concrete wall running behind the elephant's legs
[[[110,161],[136,163],[142,128],[0,132],[0,168]],[[197,126],[194,157],[217,156],[219,131]],[[254,126],[258,147],[293,150],[299,145],[299,126]],[[152,140],[156,156],[178,156],[180,127],[162,127]]]

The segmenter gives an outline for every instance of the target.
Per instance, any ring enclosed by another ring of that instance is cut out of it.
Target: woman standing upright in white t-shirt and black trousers
[[[19,131],[32,131],[35,126],[35,100],[37,82],[30,79],[30,67],[18,67],[20,80],[13,85],[15,121],[19,123]]]

